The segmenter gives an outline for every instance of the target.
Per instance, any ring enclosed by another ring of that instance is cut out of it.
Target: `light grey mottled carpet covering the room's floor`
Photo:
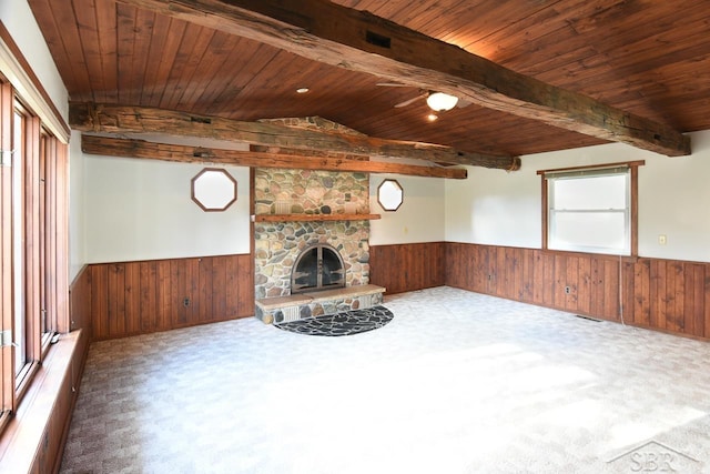
[[[61,472],[710,470],[709,343],[450,288],[385,305],[348,337],[247,319],[93,344]]]

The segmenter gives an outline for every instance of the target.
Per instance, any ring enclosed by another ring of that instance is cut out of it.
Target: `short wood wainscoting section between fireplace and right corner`
[[[373,245],[369,282],[386,288],[386,294],[442,286],[445,248],[444,242]]]

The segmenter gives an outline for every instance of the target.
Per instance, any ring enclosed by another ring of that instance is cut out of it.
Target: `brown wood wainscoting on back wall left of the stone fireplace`
[[[254,315],[248,254],[90,265],[92,340]]]

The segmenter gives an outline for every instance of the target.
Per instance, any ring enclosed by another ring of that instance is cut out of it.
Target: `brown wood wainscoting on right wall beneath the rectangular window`
[[[710,339],[710,263],[446,243],[449,286]]]

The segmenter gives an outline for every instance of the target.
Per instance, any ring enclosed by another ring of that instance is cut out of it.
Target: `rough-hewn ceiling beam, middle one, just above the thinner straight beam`
[[[72,102],[69,105],[69,124],[84,132],[165,133],[301,150],[408,158],[508,171],[520,168],[520,159],[517,157],[495,157],[432,143],[322,132],[275,123],[242,122],[142,107]]]

